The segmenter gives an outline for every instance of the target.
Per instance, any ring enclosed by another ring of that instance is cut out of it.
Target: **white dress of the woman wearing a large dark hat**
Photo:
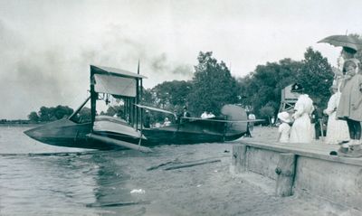
[[[295,119],[291,127],[291,143],[310,143],[313,138],[310,114],[313,112],[313,101],[306,94],[300,95],[295,103],[296,110],[292,117]]]

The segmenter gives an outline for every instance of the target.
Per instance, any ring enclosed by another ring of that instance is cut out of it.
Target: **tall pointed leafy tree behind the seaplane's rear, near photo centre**
[[[187,101],[191,112],[200,115],[209,110],[220,114],[224,104],[237,103],[239,86],[224,61],[212,57],[213,52],[200,52],[192,80],[192,92]]]

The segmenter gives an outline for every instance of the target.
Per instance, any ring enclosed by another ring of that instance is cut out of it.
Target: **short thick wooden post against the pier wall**
[[[281,153],[275,173],[278,174],[275,194],[291,196],[295,175],[295,155]]]

